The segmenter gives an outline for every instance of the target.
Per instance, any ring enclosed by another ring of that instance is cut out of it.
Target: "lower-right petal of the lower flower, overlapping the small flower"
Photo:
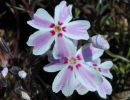
[[[103,81],[102,76],[96,70],[85,64],[81,64],[81,67],[76,69],[76,77],[89,91],[95,91]]]

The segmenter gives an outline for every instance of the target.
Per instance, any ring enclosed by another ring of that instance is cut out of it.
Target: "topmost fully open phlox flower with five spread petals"
[[[53,56],[59,58],[65,56],[64,53],[73,45],[70,39],[87,40],[89,38],[87,29],[89,29],[90,23],[86,20],[70,22],[72,17],[72,5],[67,6],[66,1],[61,1],[55,7],[54,19],[46,10],[39,8],[33,19],[27,22],[38,29],[27,41],[27,45],[33,47],[33,54],[44,54],[55,41]],[[64,52],[59,54],[59,51]]]

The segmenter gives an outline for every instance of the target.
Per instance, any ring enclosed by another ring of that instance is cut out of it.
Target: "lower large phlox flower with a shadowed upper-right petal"
[[[79,94],[84,94],[86,90],[96,91],[103,82],[102,75],[89,67],[86,61],[98,59],[103,51],[95,48],[91,43],[84,45],[78,51],[76,47],[70,47],[70,50],[65,52],[69,55],[46,65],[43,69],[47,72],[60,71],[52,84],[53,92],[57,93],[61,90],[65,96],[70,96],[74,90],[77,90]],[[82,91],[82,87],[86,90]]]

